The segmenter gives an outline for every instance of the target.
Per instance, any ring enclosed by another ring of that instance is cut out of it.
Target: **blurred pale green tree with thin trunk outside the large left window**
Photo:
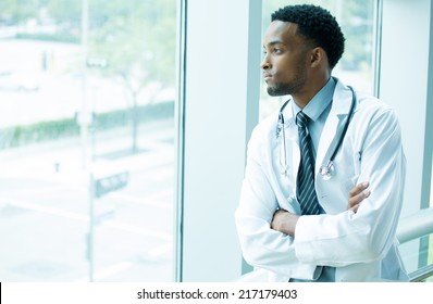
[[[92,0],[89,15],[89,56],[106,60],[103,75],[119,79],[128,92],[136,152],[140,92],[174,83],[176,1]],[[159,90],[147,97],[147,104]]]

